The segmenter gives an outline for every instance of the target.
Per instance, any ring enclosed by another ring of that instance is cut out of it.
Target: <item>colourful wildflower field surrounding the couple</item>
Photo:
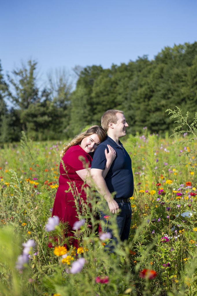
[[[62,142],[23,135],[4,145],[0,295],[197,295],[196,143],[186,133],[162,139],[146,128],[123,141],[135,189],[129,242],[119,241],[115,254],[106,252],[110,237],[104,227],[98,233],[86,205],[73,229],[80,247],[64,247],[66,225],[51,218]],[[96,211],[96,193],[87,194]],[[117,235],[114,215],[106,220]]]

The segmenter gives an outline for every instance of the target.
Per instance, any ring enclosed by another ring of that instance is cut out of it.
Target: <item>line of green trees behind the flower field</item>
[[[35,140],[66,139],[100,124],[108,109],[124,111],[130,133],[146,126],[164,134],[173,129],[167,108],[189,110],[191,121],[196,112],[197,42],[164,47],[153,60],[144,55],[110,69],[92,65],[74,71],[75,90],[64,70],[49,74],[42,88],[34,60],[13,70],[7,81],[0,63],[0,142],[18,141],[21,131]]]

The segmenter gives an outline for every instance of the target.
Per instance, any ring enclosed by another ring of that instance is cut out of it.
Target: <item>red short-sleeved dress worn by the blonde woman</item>
[[[79,157],[83,157],[83,162]],[[69,228],[66,236],[73,236],[72,226],[79,219],[76,217],[76,207],[75,207],[75,196],[71,191],[65,192],[72,186],[74,192],[80,194],[80,198],[86,202],[86,194],[83,188],[88,187],[87,184],[84,184],[83,180],[77,175],[77,170],[83,170],[84,168],[91,168],[92,157],[85,152],[79,145],[70,147],[64,156],[62,157],[64,162],[64,167],[62,162],[59,166],[60,176],[59,176],[59,187],[56,192],[56,197],[54,200],[52,216],[58,216],[59,219],[63,222],[69,222]],[[69,182],[69,184],[68,184]],[[74,189],[75,187],[75,189]],[[74,194],[75,195],[75,194]],[[75,247],[78,247],[77,239],[70,241]]]

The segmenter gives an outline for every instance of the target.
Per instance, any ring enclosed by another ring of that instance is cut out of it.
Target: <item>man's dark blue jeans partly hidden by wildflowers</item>
[[[118,202],[117,204],[119,206],[120,212],[116,217],[116,221],[117,221],[117,226],[119,230],[119,237],[123,242],[124,240],[128,240],[129,238],[132,210],[131,210],[130,202]],[[104,211],[99,210],[100,220],[103,220],[105,223],[107,222],[106,219],[104,218],[104,216],[106,215],[107,214]],[[109,224],[110,224],[110,218],[107,223],[106,231],[112,234],[111,239],[113,239],[115,243],[117,243],[117,239],[113,237],[113,230],[111,229],[111,227],[110,228],[108,227]]]

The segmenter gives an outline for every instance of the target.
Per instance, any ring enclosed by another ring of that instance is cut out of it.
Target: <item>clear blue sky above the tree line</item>
[[[41,75],[75,65],[149,59],[165,46],[197,40],[196,0],[1,0],[4,70],[34,59]]]

